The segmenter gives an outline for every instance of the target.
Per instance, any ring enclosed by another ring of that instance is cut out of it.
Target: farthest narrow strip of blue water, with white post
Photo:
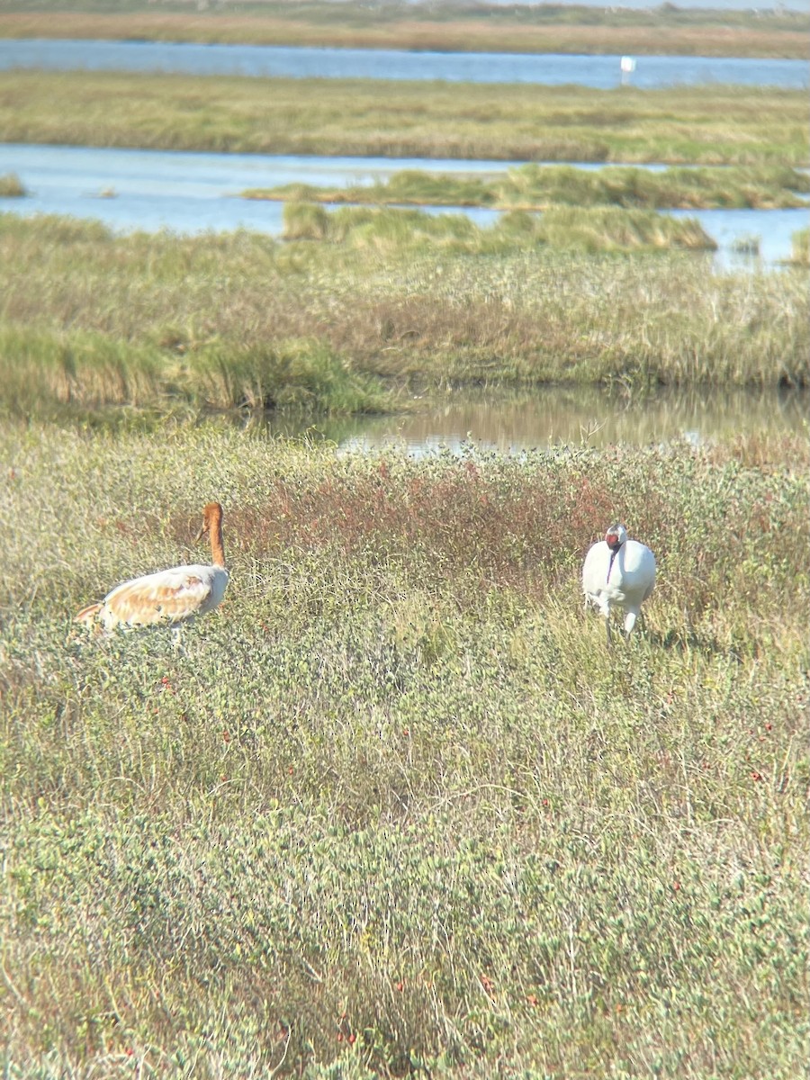
[[[0,41],[0,70],[42,68],[162,71],[323,79],[402,79],[445,82],[621,85],[620,56],[554,53],[406,52],[380,49],[291,49],[274,45],[200,45],[152,41]],[[711,56],[638,56],[626,77],[642,90],[676,84],[734,83],[801,89],[806,60]]]

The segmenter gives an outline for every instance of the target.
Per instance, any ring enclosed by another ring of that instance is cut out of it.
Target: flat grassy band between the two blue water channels
[[[214,92],[213,87],[216,87]],[[463,108],[459,102],[463,100]],[[271,104],[268,104],[271,103]],[[807,94],[0,72],[6,143],[801,167]]]

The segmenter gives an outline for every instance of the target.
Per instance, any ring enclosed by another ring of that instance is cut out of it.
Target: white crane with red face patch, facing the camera
[[[629,540],[623,525],[611,525],[605,539],[595,543],[582,566],[585,608],[597,608],[607,625],[610,643],[610,609],[624,611],[624,633],[630,636],[642,604],[656,586],[656,556],[646,544]]]

